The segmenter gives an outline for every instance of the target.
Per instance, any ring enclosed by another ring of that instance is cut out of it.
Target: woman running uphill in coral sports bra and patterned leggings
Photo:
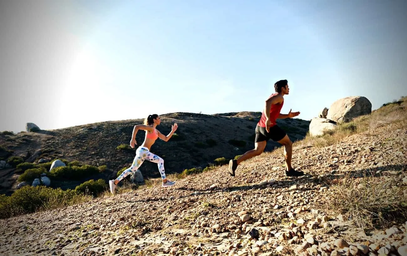
[[[138,125],[134,126],[133,135],[131,136],[131,141],[130,141],[131,148],[134,148],[134,146],[137,145],[136,134],[137,134],[138,130],[145,130],[146,137],[144,138],[144,142],[141,144],[141,146],[137,148],[136,157],[134,157],[133,164],[131,164],[130,168],[124,170],[122,172],[122,174],[120,174],[119,177],[117,177],[117,179],[109,181],[110,192],[112,192],[112,194],[114,194],[114,189],[116,188],[117,184],[122,179],[127,177],[127,175],[138,170],[138,168],[140,168],[140,166],[142,165],[144,160],[148,160],[148,161],[158,164],[158,170],[160,171],[160,174],[161,174],[163,187],[170,187],[175,184],[175,181],[170,181],[165,176],[164,160],[161,157],[151,153],[150,148],[151,148],[151,146],[153,146],[153,144],[157,138],[160,138],[163,141],[168,141],[171,138],[171,136],[173,136],[173,133],[177,130],[178,125],[177,125],[177,123],[172,125],[171,132],[167,136],[164,136],[159,130],[156,129],[156,127],[160,123],[161,123],[160,117],[157,114],[154,114],[154,115],[149,115],[144,120],[144,124],[138,124]]]

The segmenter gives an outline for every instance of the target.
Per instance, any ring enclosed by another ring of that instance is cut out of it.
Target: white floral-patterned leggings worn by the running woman
[[[127,177],[127,175],[138,170],[138,168],[140,168],[144,160],[148,160],[153,163],[158,163],[158,170],[160,171],[161,178],[165,179],[164,160],[158,155],[151,153],[148,150],[148,148],[138,147],[136,150],[136,157],[134,157],[133,163],[131,164],[130,168],[124,170],[122,174],[120,174],[120,176],[117,177],[117,180],[121,181],[122,179]]]

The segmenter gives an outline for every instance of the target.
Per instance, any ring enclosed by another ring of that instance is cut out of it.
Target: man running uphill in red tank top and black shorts
[[[266,148],[267,141],[272,139],[284,146],[284,158],[286,170],[285,174],[290,177],[298,177],[304,175],[302,171],[296,171],[291,167],[291,151],[293,143],[287,134],[276,124],[276,119],[292,118],[300,115],[300,112],[290,112],[288,114],[280,114],[282,105],[284,104],[284,95],[289,94],[287,80],[280,80],[274,84],[276,93],[270,95],[266,100],[266,106],[261,115],[260,121],[256,126],[256,138],[254,139],[254,149],[247,151],[236,160],[229,161],[229,173],[234,177],[234,171],[237,166],[252,157],[258,156]]]

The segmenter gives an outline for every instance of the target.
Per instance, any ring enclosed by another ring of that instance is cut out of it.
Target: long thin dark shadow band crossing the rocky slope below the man
[[[351,171],[341,171],[340,174],[331,174],[327,173],[322,175],[322,177],[318,177],[321,174],[313,176],[312,174],[306,174],[303,177],[298,177],[298,178],[291,178],[291,179],[285,179],[285,180],[280,180],[276,181],[274,184],[280,184],[276,186],[276,188],[290,188],[292,185],[295,185],[298,182],[301,181],[306,181],[308,183],[314,183],[315,185],[323,185],[329,188],[331,184],[335,184],[333,182],[334,180],[339,180],[343,179],[344,177],[348,177],[350,179],[357,179],[357,178],[362,178],[362,177],[381,177],[381,176],[388,176],[392,175],[389,172],[386,171],[396,171],[396,172],[404,172],[407,174],[407,165],[406,164],[398,164],[398,165],[389,165],[389,166],[382,166],[382,167],[375,167],[375,168],[363,168],[359,170],[351,170]],[[195,189],[195,188],[175,188],[175,190],[184,190],[184,191],[191,191],[192,193],[189,195],[184,195],[184,196],[175,196],[176,199],[183,199],[183,198],[188,198],[191,196],[198,196],[201,194],[215,194],[218,193],[219,191],[222,192],[232,192],[232,191],[248,191],[248,190],[264,190],[269,188],[269,184],[265,185],[260,185],[259,183],[257,184],[252,184],[252,185],[241,185],[241,186],[226,186],[226,187],[217,187],[214,188],[213,190],[208,189]],[[315,190],[315,188],[302,188],[301,190]],[[127,201],[129,203],[136,203],[136,202],[149,202],[149,201],[168,201],[171,200],[169,197],[162,197],[162,198],[150,198],[150,199],[141,199],[141,200],[135,200],[135,201]]]

